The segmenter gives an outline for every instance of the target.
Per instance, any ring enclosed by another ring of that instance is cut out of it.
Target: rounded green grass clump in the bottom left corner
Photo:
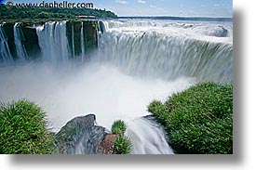
[[[28,100],[0,105],[1,154],[49,154],[53,136],[47,130],[46,114]]]

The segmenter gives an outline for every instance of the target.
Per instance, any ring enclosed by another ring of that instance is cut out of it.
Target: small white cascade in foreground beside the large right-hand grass
[[[138,118],[128,122],[126,135],[131,142],[132,154],[173,154],[163,127],[154,120]]]

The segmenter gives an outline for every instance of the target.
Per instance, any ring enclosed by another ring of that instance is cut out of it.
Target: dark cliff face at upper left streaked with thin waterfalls
[[[58,50],[66,59],[85,59],[98,46],[97,29],[96,20],[1,23],[0,62],[45,59]]]

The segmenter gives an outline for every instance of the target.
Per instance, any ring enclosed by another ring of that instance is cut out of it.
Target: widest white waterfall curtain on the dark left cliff
[[[66,21],[48,21],[36,28],[43,60],[66,63],[69,60]]]

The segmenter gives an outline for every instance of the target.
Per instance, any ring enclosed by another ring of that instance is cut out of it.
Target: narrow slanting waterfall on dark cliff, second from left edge
[[[24,40],[24,35],[22,33],[22,30],[20,28],[20,23],[16,22],[13,27],[13,35],[14,35],[14,43],[16,46],[16,53],[17,57],[20,60],[26,60],[28,59],[28,55],[26,52],[26,48],[23,45]]]

